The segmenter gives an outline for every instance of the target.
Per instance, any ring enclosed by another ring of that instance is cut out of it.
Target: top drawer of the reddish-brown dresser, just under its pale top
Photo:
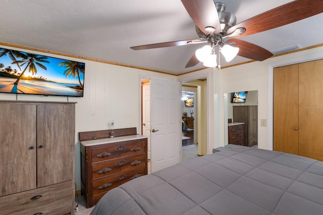
[[[105,146],[102,148],[92,149],[92,163],[102,162],[108,159],[120,158],[135,154],[144,153],[145,142],[131,142],[131,143],[120,143],[112,144],[111,146]]]

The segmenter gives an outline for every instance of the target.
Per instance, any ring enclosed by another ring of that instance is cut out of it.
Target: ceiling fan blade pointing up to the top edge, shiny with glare
[[[216,6],[212,0],[181,0],[186,11],[191,16],[197,27],[205,34],[210,34],[205,27],[214,27],[219,33],[220,20]]]

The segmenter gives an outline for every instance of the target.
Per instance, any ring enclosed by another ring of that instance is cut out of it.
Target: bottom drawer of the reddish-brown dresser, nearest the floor
[[[103,180],[95,181],[92,184],[93,196],[103,192],[107,192],[115,187],[118,187],[119,185],[126,183],[127,181],[143,176],[144,174],[145,174],[145,170],[144,168],[142,168],[142,169],[137,169],[129,172],[120,173],[118,175],[114,175],[110,178],[106,178]]]

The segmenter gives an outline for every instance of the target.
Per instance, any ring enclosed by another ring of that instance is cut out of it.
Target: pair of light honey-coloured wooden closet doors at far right
[[[274,69],[274,150],[323,160],[323,60]]]

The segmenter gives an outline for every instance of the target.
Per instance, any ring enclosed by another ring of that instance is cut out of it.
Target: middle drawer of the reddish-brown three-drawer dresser
[[[137,168],[144,168],[144,159],[144,155],[137,155],[114,160],[113,162],[107,162],[105,164],[94,165],[92,166],[92,179],[94,180]]]

